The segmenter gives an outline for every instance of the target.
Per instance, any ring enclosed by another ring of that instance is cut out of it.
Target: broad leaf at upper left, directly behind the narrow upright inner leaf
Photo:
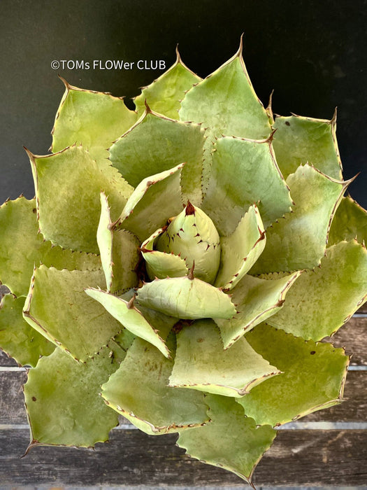
[[[46,156],[29,153],[29,159],[44,237],[65,248],[99,253],[101,190],[108,195],[115,220],[131,195],[131,186],[107,162],[97,165],[80,146]]]

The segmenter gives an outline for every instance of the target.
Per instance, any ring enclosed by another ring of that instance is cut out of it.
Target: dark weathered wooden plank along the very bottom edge
[[[0,482],[5,485],[244,486],[225,470],[199,463],[175,447],[177,436],[114,430],[109,444],[87,449],[36,447],[24,430],[0,433]],[[22,448],[20,450],[20,448]],[[255,471],[260,485],[352,486],[367,481],[366,430],[287,430]]]

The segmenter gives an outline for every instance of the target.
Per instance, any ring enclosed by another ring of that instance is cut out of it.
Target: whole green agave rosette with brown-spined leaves
[[[236,55],[177,61],[136,97],[73,87],[36,197],[0,209],[0,344],[38,444],[118,415],[251,484],[278,426],[343,401],[332,335],[366,300],[366,211],[336,117],[273,118]]]

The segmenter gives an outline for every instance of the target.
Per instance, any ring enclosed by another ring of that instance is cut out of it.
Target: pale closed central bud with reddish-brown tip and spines
[[[220,237],[204,211],[187,202],[157,240],[157,250],[180,255],[194,275],[213,283],[220,266]]]

